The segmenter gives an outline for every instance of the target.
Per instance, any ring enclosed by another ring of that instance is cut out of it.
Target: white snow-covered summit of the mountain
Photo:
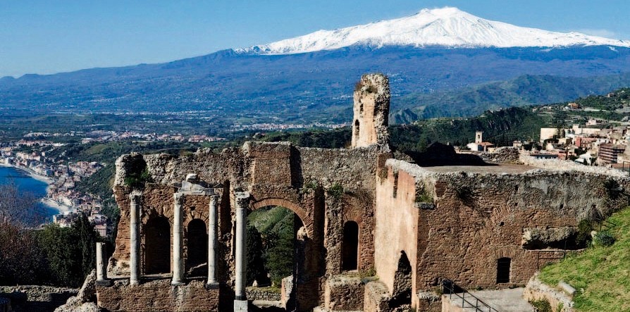
[[[405,18],[381,20],[338,30],[319,30],[309,35],[270,44],[235,49],[237,53],[299,54],[346,46],[444,46],[476,47],[560,47],[624,46],[630,41],[584,35],[579,32],[550,32],[485,20],[457,8],[424,9]]]

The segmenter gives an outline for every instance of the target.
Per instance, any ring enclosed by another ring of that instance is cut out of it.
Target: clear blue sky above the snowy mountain
[[[627,0],[0,0],[0,77],[172,61],[443,6],[630,39]]]

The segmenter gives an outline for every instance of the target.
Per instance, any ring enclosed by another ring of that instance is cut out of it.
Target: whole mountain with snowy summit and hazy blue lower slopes
[[[0,113],[211,111],[338,123],[352,116],[348,103],[360,75],[382,72],[390,77],[392,115],[404,115],[397,120],[402,122],[549,99],[527,92],[555,89],[557,100],[605,92],[630,85],[628,68],[627,41],[517,27],[440,8],[170,63],[4,77]],[[593,76],[605,77],[582,79]],[[558,83],[574,79],[578,87]],[[495,83],[501,80],[512,83]],[[457,99],[457,89],[470,92],[490,83],[509,85],[523,93],[521,100],[493,104],[486,98],[481,106],[467,102],[465,109],[440,103]]]

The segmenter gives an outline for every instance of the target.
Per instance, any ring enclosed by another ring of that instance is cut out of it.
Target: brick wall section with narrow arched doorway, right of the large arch
[[[343,226],[359,225],[359,270],[373,266],[373,202],[379,155],[376,149],[298,148],[304,185],[316,182],[324,189],[342,188],[340,199],[326,194],[324,247],[326,272],[341,273]],[[322,164],[326,164],[322,166]]]

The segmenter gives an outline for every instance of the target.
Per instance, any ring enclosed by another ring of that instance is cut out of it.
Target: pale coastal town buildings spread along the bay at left
[[[101,237],[111,235],[113,227],[107,216],[101,213],[104,199],[93,194],[79,192],[76,186],[81,180],[104,168],[106,164],[97,161],[64,161],[63,157],[54,151],[67,147],[68,144],[59,142],[59,138],[66,137],[80,139],[79,144],[120,142],[130,139],[139,142],[194,143],[222,140],[220,137],[206,135],[158,135],[98,130],[67,133],[30,132],[18,141],[0,144],[0,166],[18,168],[48,184],[47,194],[42,202],[59,212],[52,216],[49,222],[61,227],[70,227],[82,213],[94,224],[94,230]]]

